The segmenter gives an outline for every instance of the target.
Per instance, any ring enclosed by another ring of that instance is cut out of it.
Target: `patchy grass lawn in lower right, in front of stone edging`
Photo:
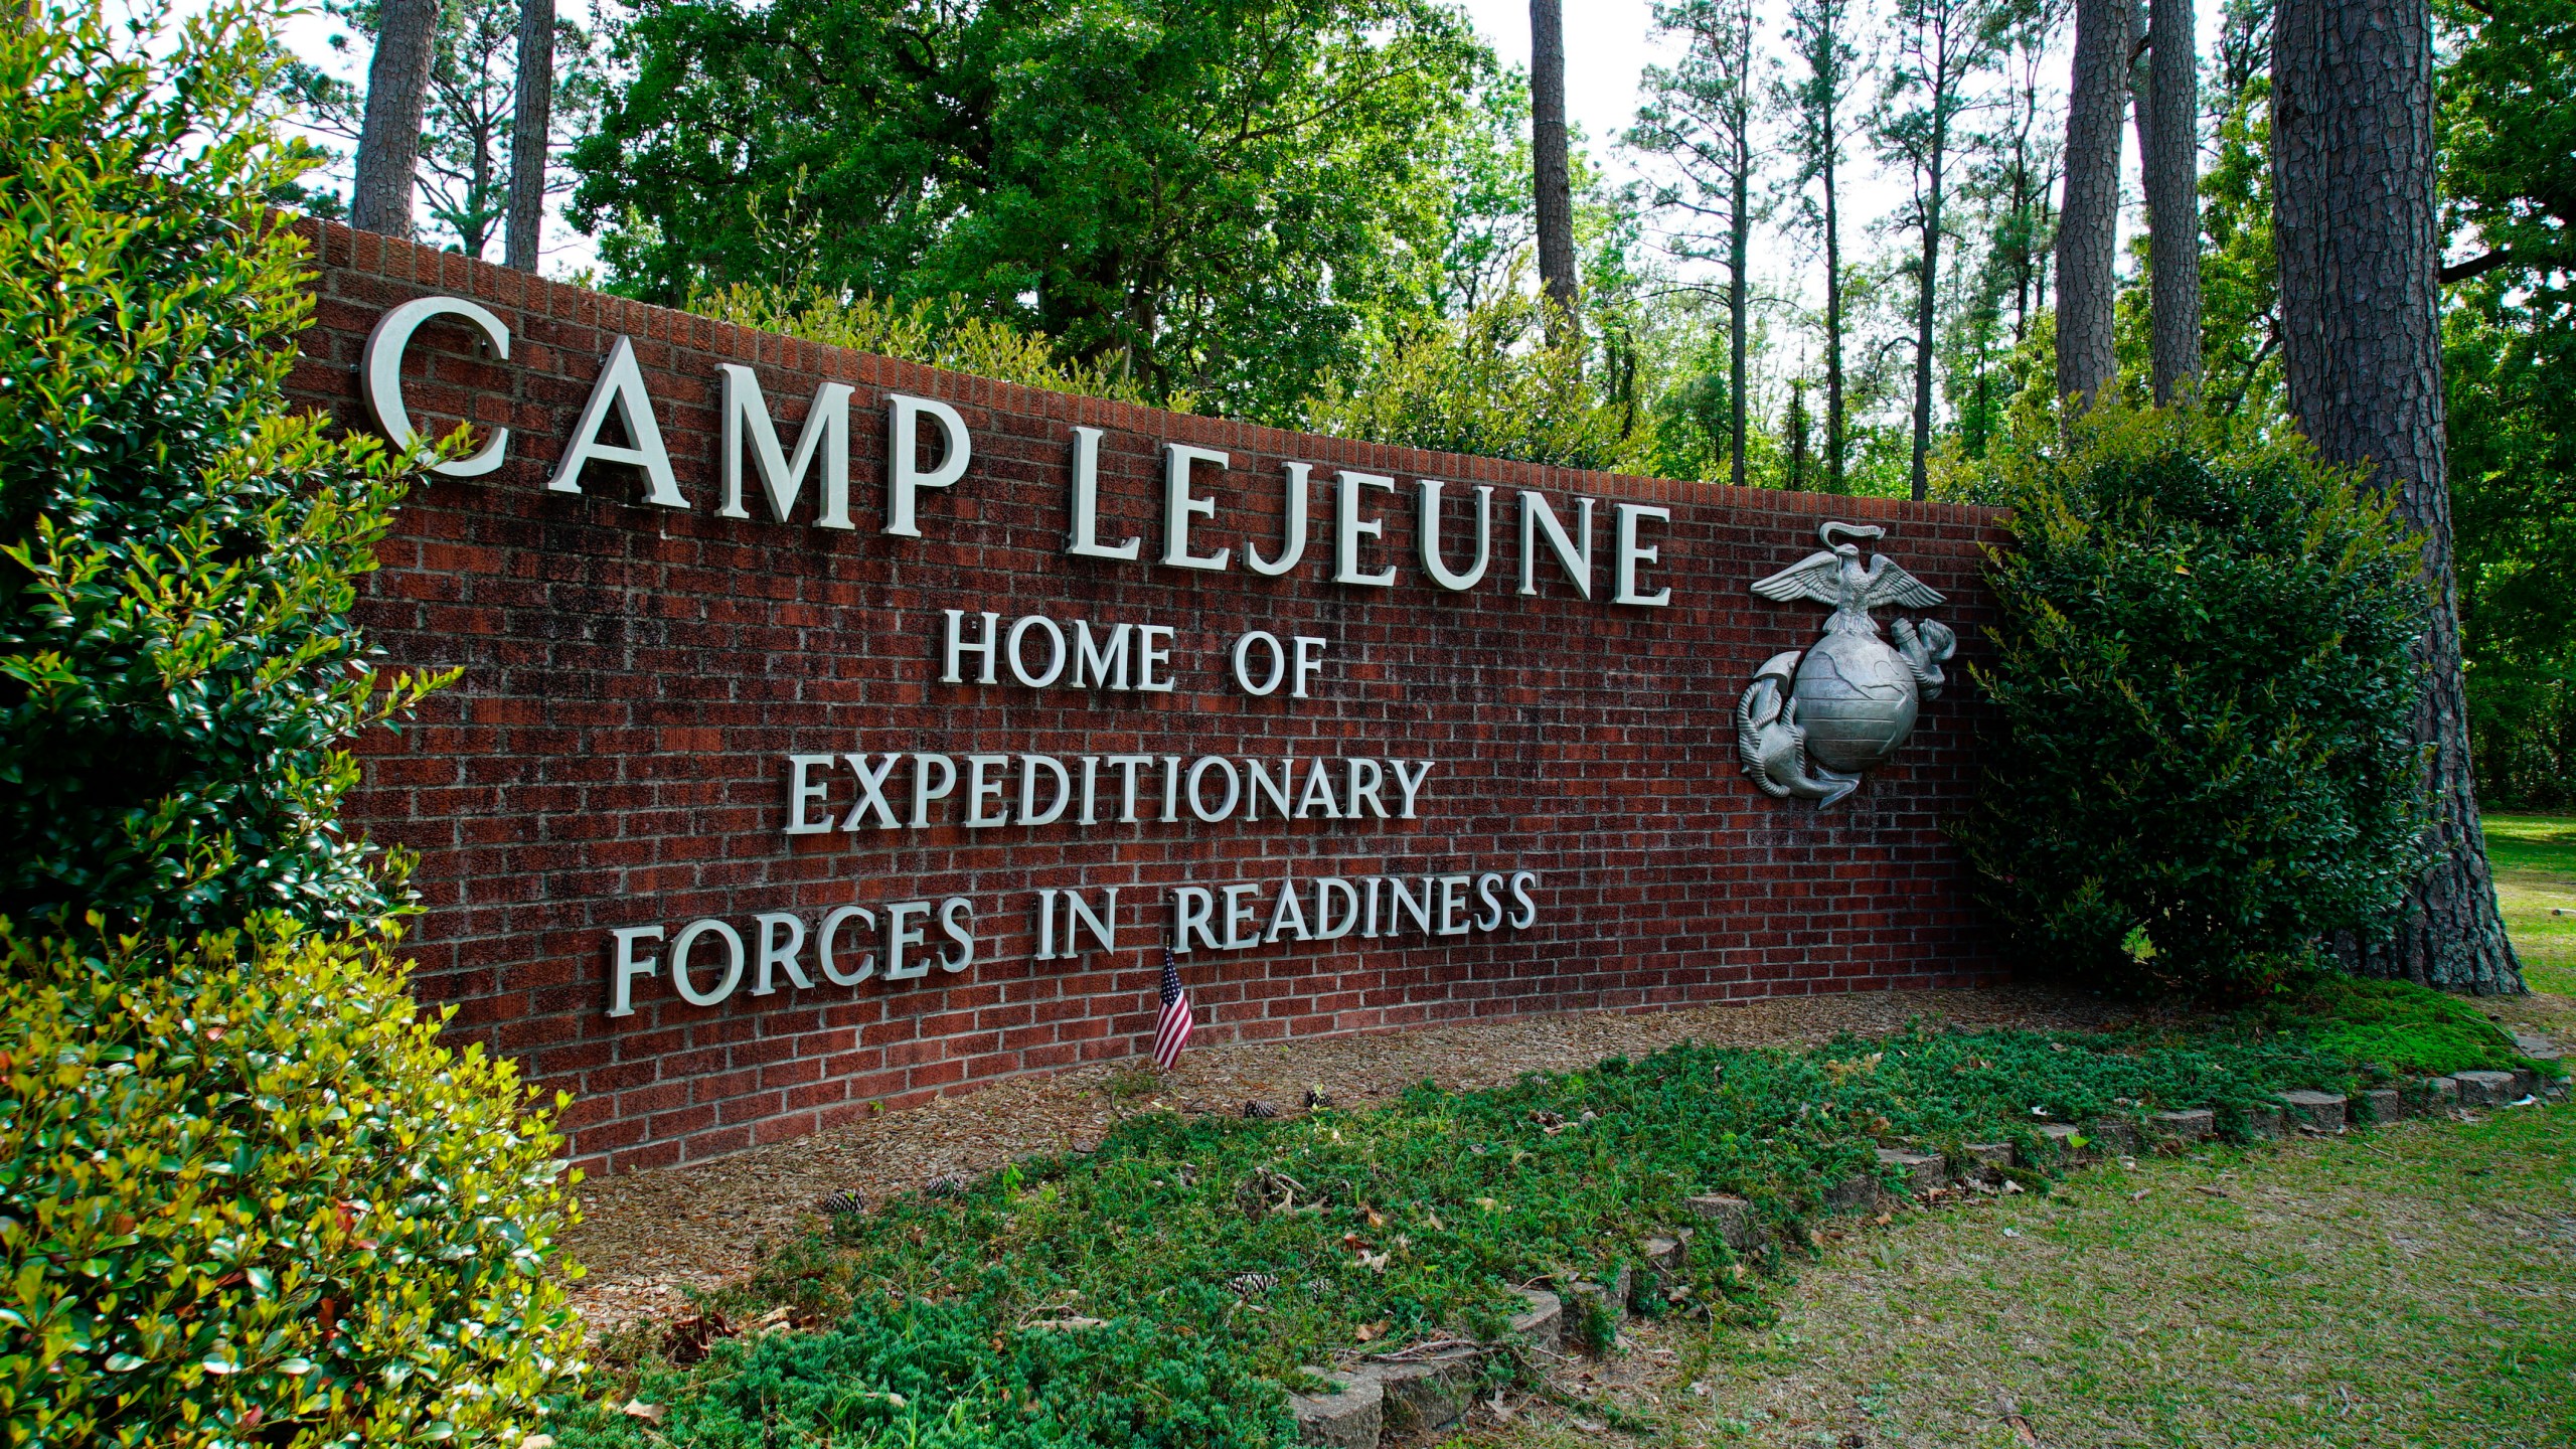
[[[1628,1439],[2576,1444],[2576,1111],[2105,1168],[1855,1238],[1783,1297],[1641,1333]],[[1602,1441],[1551,1418],[1479,1439]]]

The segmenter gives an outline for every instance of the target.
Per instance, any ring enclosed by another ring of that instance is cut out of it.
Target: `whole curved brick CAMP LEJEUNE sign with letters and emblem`
[[[595,1168],[1133,1055],[1167,941],[1200,1044],[1991,969],[1940,833],[1981,511],[1154,413],[312,237],[299,400],[477,449],[361,608],[464,676],[350,820],[420,853],[422,995],[572,1091]],[[1929,616],[1937,699],[1878,642]]]

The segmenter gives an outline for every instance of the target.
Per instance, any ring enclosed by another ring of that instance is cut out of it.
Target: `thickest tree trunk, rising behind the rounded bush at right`
[[[2326,462],[2367,464],[2424,534],[2432,621],[2416,740],[2429,748],[2432,866],[2375,977],[2519,993],[2478,828],[2445,480],[2432,15],[2424,0],[2282,0],[2272,31],[2275,240],[2290,415]]]

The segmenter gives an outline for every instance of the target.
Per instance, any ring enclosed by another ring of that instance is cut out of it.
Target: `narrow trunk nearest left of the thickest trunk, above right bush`
[[[2146,276],[2156,402],[2200,384],[2200,44],[2192,0],[2154,0],[2143,101]]]

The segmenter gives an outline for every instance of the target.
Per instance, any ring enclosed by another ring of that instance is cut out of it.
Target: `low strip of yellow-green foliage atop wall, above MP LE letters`
[[[899,304],[873,297],[842,299],[819,291],[788,297],[760,286],[729,286],[693,297],[688,309],[737,327],[786,333],[809,343],[858,348],[997,382],[1115,402],[1157,402],[1133,376],[1084,361],[1059,361],[1046,333],[1020,333],[1007,322],[976,317],[961,297]],[[1162,402],[1188,410],[1193,397],[1175,394]]]

